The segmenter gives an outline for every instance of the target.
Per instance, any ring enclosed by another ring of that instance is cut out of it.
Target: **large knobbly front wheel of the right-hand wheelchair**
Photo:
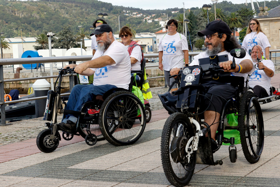
[[[187,159],[185,147],[194,136],[192,124],[183,113],[171,114],[161,136],[161,161],[167,180],[174,186],[185,186],[194,174],[196,151]]]

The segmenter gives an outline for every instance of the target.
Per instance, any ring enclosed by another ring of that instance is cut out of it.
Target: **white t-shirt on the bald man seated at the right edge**
[[[275,73],[274,64],[271,60],[263,60],[262,63]],[[257,63],[253,62],[253,64],[256,65]],[[266,90],[268,95],[270,95],[270,80],[271,77],[268,77],[264,70],[255,69],[254,73],[250,76],[249,86],[254,88],[254,86],[259,85]]]

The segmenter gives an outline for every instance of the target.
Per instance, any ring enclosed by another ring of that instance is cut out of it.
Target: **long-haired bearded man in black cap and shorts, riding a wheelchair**
[[[220,67],[225,72],[231,72],[232,76],[244,77],[244,81],[246,81],[247,75],[254,72],[252,59],[249,54],[246,54],[241,59],[236,58],[236,68],[231,69],[233,57],[230,55],[230,51],[240,47],[235,37],[231,36],[231,33],[232,31],[229,26],[222,20],[210,22],[203,31],[197,33],[198,36],[204,36],[204,45],[207,47],[207,50],[194,56],[190,66],[199,65],[199,59],[209,58],[212,55],[228,55],[229,60],[221,62],[219,64]],[[174,68],[170,71],[170,75],[178,74],[179,71],[179,68]],[[230,84],[215,80],[205,82],[202,85],[207,93],[204,93],[205,97],[202,97],[200,101],[200,103],[203,103],[200,105],[200,109],[205,111],[204,121],[210,126],[212,150],[215,150],[217,148],[215,135],[220,121],[220,114],[226,101],[235,97],[236,90]]]

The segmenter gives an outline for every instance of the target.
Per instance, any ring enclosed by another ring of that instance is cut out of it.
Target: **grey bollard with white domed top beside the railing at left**
[[[47,96],[50,88],[50,84],[46,79],[36,80],[32,85],[34,89],[35,97]],[[47,99],[37,99],[35,100],[35,111],[36,117],[43,117]]]

